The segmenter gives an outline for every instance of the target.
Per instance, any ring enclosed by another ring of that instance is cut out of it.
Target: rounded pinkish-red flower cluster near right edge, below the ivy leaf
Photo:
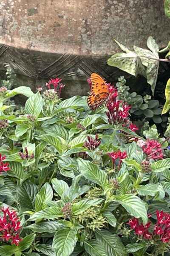
[[[142,146],[142,150],[147,155],[148,159],[163,159],[163,149],[157,140],[147,139],[147,142]]]

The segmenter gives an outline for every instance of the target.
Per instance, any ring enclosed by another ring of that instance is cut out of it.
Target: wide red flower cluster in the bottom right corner
[[[151,215],[148,217],[150,218]],[[140,224],[139,219],[134,217],[127,224],[130,225],[131,229],[135,230],[138,238],[152,239],[155,242],[170,242],[170,214],[162,210],[160,212],[156,210],[156,218],[157,221],[153,227],[150,227],[151,221],[144,225],[142,223]]]

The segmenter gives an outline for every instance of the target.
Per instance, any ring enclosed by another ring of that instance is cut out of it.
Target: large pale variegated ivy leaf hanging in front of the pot
[[[150,50],[134,46],[134,51],[130,51],[118,41],[115,40],[115,42],[126,53],[117,52],[112,55],[108,59],[108,65],[118,67],[133,76],[142,75],[146,77],[154,93],[159,69],[159,61],[157,60],[159,59],[159,46],[153,37],[150,36],[147,39],[147,47]]]

